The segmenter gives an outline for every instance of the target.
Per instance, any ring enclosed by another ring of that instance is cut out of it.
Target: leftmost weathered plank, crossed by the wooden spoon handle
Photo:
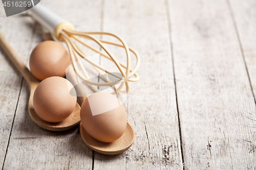
[[[27,25],[24,25],[24,23],[29,21],[31,21],[31,18],[28,17],[25,17],[23,20],[18,18],[0,17],[0,31],[24,60],[28,56],[28,48],[32,38],[32,31],[28,29]],[[11,27],[16,27],[18,30],[11,31]],[[23,33],[23,39],[22,37],[17,38],[19,32]],[[20,40],[22,40],[23,43],[20,43]],[[22,87],[22,76],[2,48],[0,48],[0,72],[0,166],[2,167],[12,129],[14,114],[16,112],[20,88]]]

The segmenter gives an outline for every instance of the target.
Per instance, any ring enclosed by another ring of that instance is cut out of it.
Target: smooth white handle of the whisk
[[[61,22],[67,22],[65,19],[51,12],[40,4],[28,10],[28,14],[37,20],[47,31],[54,33],[55,27]]]

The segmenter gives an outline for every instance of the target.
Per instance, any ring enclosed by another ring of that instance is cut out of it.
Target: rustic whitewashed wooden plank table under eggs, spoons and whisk
[[[28,113],[28,85],[0,49],[0,166],[3,169],[254,169],[255,0],[42,0],[80,31],[117,33],[141,56],[125,103],[132,147],[95,153],[78,126],[51,132]],[[28,65],[43,41],[25,13],[0,31]],[[0,167],[0,168],[1,168]]]

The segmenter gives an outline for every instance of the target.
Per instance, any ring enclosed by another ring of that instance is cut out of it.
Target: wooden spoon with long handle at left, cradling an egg
[[[11,45],[7,42],[5,37],[0,33],[0,46],[2,46],[3,50],[6,52],[8,57],[17,67],[19,72],[23,75],[25,80],[27,81],[30,89],[30,97],[29,97],[29,115],[31,119],[36,123],[39,127],[51,130],[51,131],[65,131],[75,127],[80,122],[80,106],[76,104],[76,107],[72,114],[66,118],[65,120],[58,123],[50,123],[42,120],[35,112],[33,106],[33,95],[35,88],[40,83],[37,79],[33,77],[29,69],[26,67],[22,59],[18,56],[18,54],[13,50]]]

